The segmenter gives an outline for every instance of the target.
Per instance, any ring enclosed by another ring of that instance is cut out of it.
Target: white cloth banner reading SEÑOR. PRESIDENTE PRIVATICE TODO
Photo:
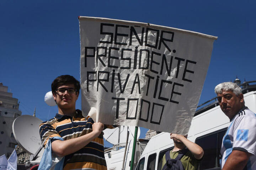
[[[82,111],[97,122],[186,134],[215,36],[79,17]]]

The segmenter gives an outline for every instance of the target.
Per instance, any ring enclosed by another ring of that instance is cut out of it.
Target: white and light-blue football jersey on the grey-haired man
[[[232,151],[251,153],[244,170],[256,169],[256,114],[247,107],[242,108],[231,120],[223,137],[220,160],[223,168]]]

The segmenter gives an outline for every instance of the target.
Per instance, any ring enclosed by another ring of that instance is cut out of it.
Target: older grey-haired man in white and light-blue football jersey
[[[214,90],[220,108],[231,122],[220,151],[222,170],[256,169],[256,114],[245,107],[237,84],[221,83]]]

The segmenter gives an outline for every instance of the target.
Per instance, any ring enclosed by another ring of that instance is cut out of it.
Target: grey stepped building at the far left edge
[[[18,99],[13,98],[8,87],[0,83],[0,156],[5,154],[9,158],[17,145],[12,123],[20,115]]]

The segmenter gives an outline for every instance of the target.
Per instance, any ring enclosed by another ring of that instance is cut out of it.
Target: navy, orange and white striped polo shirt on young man
[[[92,118],[83,117],[80,110],[76,110],[73,117],[57,113],[53,119],[40,124],[40,137],[42,142],[48,136],[60,136],[64,140],[69,140],[92,132],[93,123]],[[113,128],[113,126],[108,128]],[[48,139],[44,142],[44,147],[47,141]],[[63,170],[71,169],[107,170],[103,133],[79,151],[65,156]]]

